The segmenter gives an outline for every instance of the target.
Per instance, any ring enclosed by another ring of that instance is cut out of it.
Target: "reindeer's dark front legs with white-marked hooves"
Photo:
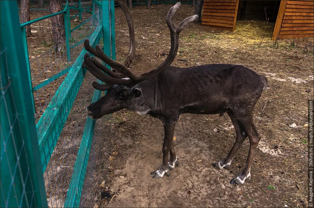
[[[175,151],[172,146],[172,138],[173,138],[173,133],[176,126],[176,121],[164,120],[163,124],[164,124],[164,129],[165,129],[165,138],[164,138],[164,144],[162,145],[162,152],[164,156],[163,156],[161,167],[158,170],[150,173],[150,175],[154,175],[153,178],[162,178],[164,174],[166,174],[169,177],[170,173],[169,173],[168,164],[170,165],[170,167],[173,166],[173,168],[174,168],[174,164],[178,164]],[[171,150],[171,158],[170,158],[171,161],[168,162],[168,153],[170,150]]]

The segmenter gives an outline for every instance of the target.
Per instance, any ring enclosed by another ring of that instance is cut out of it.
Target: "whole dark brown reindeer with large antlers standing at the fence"
[[[250,151],[246,165],[241,174],[230,181],[231,184],[243,184],[246,179],[251,178],[253,156],[260,140],[253,123],[252,111],[263,89],[267,87],[267,79],[241,65],[209,64],[190,68],[170,66],[178,51],[179,33],[197,18],[197,15],[193,15],[176,25],[173,17],[181,3],[176,3],[167,14],[171,48],[165,61],[148,73],[133,74],[128,68],[135,53],[133,22],[125,2],[119,3],[127,17],[130,32],[130,50],[124,64],[111,60],[100,46],[94,49],[89,45],[89,40],[84,42],[88,52],[113,68],[112,71],[109,70],[95,57],[89,57],[88,53],[84,56],[83,66],[106,83],[101,85],[93,82],[93,87],[108,90],[105,96],[86,108],[89,117],[98,119],[105,114],[126,108],[141,115],[149,114],[159,118],[165,129],[163,162],[151,175],[154,175],[153,178],[161,178],[164,174],[169,176],[169,170],[175,165],[178,166],[172,138],[180,114],[222,116],[226,112],[235,127],[236,142],[228,156],[223,161],[213,163],[213,166],[220,169],[229,167],[242,142],[249,137]]]

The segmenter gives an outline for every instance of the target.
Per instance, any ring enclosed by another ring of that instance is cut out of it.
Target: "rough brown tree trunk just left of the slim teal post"
[[[62,2],[61,0],[49,0],[50,13],[57,13],[62,11]],[[64,29],[64,17],[63,14],[58,14],[51,17],[51,27],[53,34],[53,41],[55,46],[59,49],[62,48],[62,43],[65,40],[65,29]]]

